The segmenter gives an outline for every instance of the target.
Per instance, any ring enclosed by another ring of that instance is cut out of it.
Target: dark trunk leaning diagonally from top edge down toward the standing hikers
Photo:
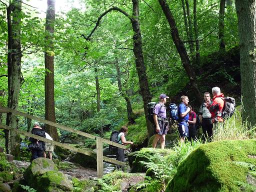
[[[183,65],[183,67],[184,67],[184,69],[185,69],[185,71],[188,75],[190,84],[191,84],[192,89],[194,91],[195,98],[196,98],[197,102],[200,102],[201,101],[201,93],[200,93],[200,91],[197,87],[197,84],[196,84],[195,72],[194,72],[193,68],[190,67],[190,60],[189,60],[189,57],[187,55],[186,49],[184,47],[184,43],[181,41],[181,39],[179,37],[174,17],[172,15],[166,1],[165,0],[158,0],[158,1],[161,5],[163,13],[165,14],[165,16],[167,18],[167,21],[169,23],[169,26],[170,26],[170,29],[171,29],[170,33],[171,33],[172,40],[173,40],[173,42],[176,46],[176,49],[177,49],[178,54],[180,56],[182,65]]]

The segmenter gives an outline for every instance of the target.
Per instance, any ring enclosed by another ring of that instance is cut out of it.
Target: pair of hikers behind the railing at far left
[[[43,126],[41,127],[38,122],[34,122],[31,133],[52,140],[51,136],[45,132]],[[28,148],[31,150],[32,160],[38,157],[46,158],[47,155],[49,159],[52,159],[53,144],[32,137],[29,137],[29,141]]]

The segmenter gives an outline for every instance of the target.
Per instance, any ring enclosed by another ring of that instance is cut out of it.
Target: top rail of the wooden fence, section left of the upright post
[[[13,110],[11,108],[7,108],[7,107],[4,107],[4,106],[0,106],[0,109],[3,109],[3,110],[6,110],[8,112],[12,112],[14,114],[17,114],[17,115],[20,115],[20,116],[25,116],[27,118],[31,118],[33,120],[36,120],[36,121],[39,121],[39,122],[43,122],[43,123],[46,123],[46,124],[49,124],[51,126],[55,126],[55,127],[58,127],[58,128],[61,128],[63,130],[67,130],[69,132],[73,132],[73,133],[76,133],[76,134],[79,134],[79,135],[82,135],[82,136],[86,136],[88,138],[91,138],[91,139],[95,139],[96,136],[92,135],[92,134],[88,134],[86,132],[82,132],[80,130],[76,130],[76,129],[73,129],[73,128],[69,128],[67,126],[64,126],[62,124],[58,124],[56,122],[51,122],[49,120],[45,120],[43,118],[39,118],[39,117],[36,117],[36,116],[33,116],[33,115],[30,115],[30,114],[26,114],[26,113],[23,113],[23,112],[19,112],[17,110]]]

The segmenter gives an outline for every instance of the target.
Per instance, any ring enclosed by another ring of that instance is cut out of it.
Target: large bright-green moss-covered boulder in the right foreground
[[[177,167],[166,191],[241,191],[249,167],[256,165],[256,140],[202,144]],[[250,191],[250,190],[245,190]]]

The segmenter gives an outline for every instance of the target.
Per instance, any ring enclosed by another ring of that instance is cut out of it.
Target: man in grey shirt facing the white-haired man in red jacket
[[[207,105],[212,104],[212,101],[210,100],[210,93],[204,92],[203,99],[204,99],[204,102],[201,103],[199,108],[199,118],[202,125],[202,133],[203,133],[202,139],[205,140],[206,138],[208,138],[210,140],[212,135],[211,114],[209,109],[206,107]]]

